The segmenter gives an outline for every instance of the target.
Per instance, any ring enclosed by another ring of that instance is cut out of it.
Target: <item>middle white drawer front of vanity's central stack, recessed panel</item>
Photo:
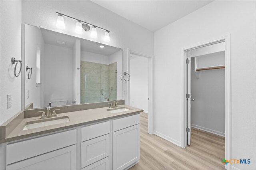
[[[82,168],[109,156],[109,134],[81,143]]]

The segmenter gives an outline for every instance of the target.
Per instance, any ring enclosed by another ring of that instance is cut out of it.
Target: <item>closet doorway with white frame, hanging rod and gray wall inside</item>
[[[229,42],[230,36],[223,36],[182,49],[182,147],[193,145],[198,135],[208,135],[211,140],[219,140],[219,136],[224,140],[226,159],[230,159],[231,138]]]

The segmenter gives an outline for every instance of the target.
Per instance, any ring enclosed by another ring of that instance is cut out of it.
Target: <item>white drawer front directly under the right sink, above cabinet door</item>
[[[140,114],[113,120],[113,132],[140,123]]]

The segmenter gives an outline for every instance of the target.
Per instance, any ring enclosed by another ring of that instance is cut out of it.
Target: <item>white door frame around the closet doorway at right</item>
[[[188,47],[181,49],[181,147],[185,148],[187,146],[187,117],[186,117],[186,88],[187,88],[187,68],[186,68],[186,51],[191,49],[196,49],[199,47],[204,47],[212,45],[219,42],[225,42],[225,158],[230,159],[231,156],[231,93],[230,93],[230,34],[215,38],[210,41],[203,43],[196,43]],[[226,169],[230,170],[230,164],[225,166]]]

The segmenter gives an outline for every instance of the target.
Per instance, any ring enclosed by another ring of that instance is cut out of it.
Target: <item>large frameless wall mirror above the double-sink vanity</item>
[[[25,67],[25,109],[122,99],[118,47],[25,24]]]

